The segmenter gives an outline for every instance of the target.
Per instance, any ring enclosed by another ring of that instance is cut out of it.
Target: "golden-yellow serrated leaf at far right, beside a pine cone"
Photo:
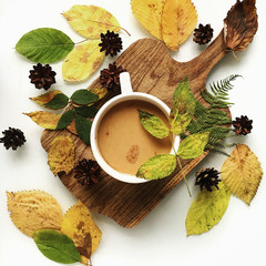
[[[250,204],[263,177],[257,156],[246,144],[238,144],[222,166],[222,180],[231,192]]]

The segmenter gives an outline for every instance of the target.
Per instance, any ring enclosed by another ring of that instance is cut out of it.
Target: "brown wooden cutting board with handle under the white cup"
[[[190,62],[176,62],[161,41],[141,39],[117,58],[116,64],[130,72],[134,91],[153,94],[171,108],[173,92],[186,76],[192,92],[204,103],[200,92],[205,88],[209,71],[226,53],[222,30],[216,40]],[[90,89],[99,86],[98,79]],[[90,146],[69,131],[45,130],[41,137],[45,151],[49,151],[52,140],[60,134],[68,134],[74,141],[76,163],[84,157],[93,158]],[[204,153],[195,160],[182,161],[184,173],[188,174],[206,155]],[[180,170],[174,177],[143,184],[122,183],[105,173],[102,173],[98,184],[91,186],[80,185],[73,171],[59,177],[90,209],[113,218],[124,227],[137,225],[183,178]]]

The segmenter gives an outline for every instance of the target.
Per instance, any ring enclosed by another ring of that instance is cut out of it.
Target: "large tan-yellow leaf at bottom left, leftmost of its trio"
[[[60,231],[63,219],[59,203],[42,191],[7,192],[13,224],[25,235],[39,229]]]

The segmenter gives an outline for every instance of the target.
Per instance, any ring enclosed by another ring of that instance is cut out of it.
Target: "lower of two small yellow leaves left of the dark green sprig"
[[[47,111],[37,111],[37,112],[23,113],[23,114],[31,117],[31,120],[35,122],[38,125],[48,130],[55,130],[61,116],[59,114],[50,113]]]

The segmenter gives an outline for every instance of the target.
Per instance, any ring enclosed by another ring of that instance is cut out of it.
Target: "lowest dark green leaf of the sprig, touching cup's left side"
[[[91,144],[90,137],[91,137],[92,122],[79,114],[75,116],[74,121],[75,121],[75,129],[76,129],[79,137],[83,142],[85,142],[86,144],[90,145]]]

